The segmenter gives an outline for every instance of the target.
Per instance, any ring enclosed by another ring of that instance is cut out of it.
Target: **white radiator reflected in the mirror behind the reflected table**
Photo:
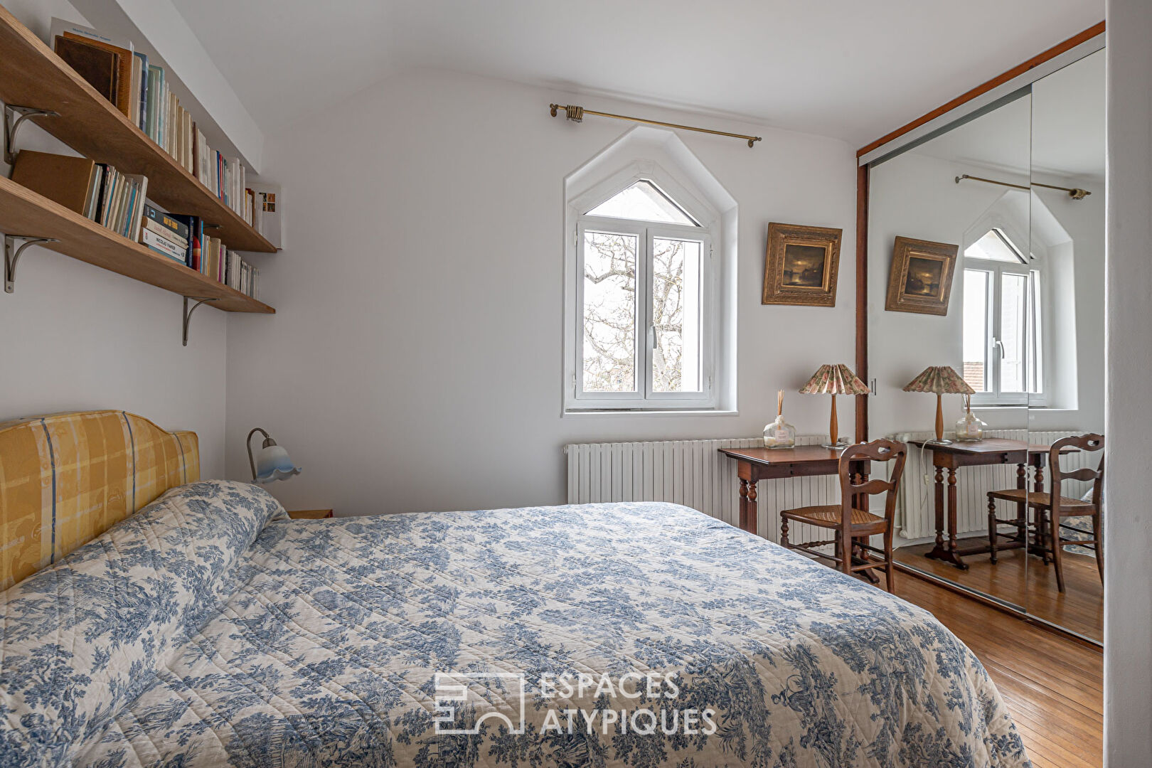
[[[1031,443],[1049,444],[1078,434],[1069,431],[1059,432],[1032,432],[1025,429],[985,429],[986,438],[1005,438],[1008,440],[1024,440]],[[927,440],[934,438],[934,432],[902,432],[894,435],[895,440]],[[1100,463],[1099,453],[1076,451],[1063,456],[1060,466],[1063,470],[1077,470],[1082,466],[1091,466],[1093,470]],[[924,478],[929,481],[925,482]],[[1048,480],[1047,465],[1044,470],[1044,487],[1051,486]],[[945,500],[947,503],[947,471],[945,472]],[[931,453],[920,451],[917,446],[908,447],[908,462],[904,465],[904,478],[900,484],[900,505],[896,508],[896,530],[908,539],[923,539],[935,535],[935,469],[932,466]],[[1063,495],[1077,497],[1089,489],[1090,482],[1078,480],[1066,480],[1061,488]],[[986,466],[965,466],[956,470],[956,532],[970,533],[972,531],[988,530],[988,497],[990,491],[1001,491],[1003,488],[1016,487],[1016,465],[994,464]],[[1028,487],[1032,488],[1032,472],[1029,469]],[[1003,504],[1003,502],[999,502]],[[1001,508],[1001,511],[1008,511]],[[1001,515],[1010,517],[1010,515]]]

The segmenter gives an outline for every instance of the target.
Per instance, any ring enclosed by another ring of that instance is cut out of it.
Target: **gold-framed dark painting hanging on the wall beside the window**
[[[843,229],[768,225],[761,304],[835,306]]]

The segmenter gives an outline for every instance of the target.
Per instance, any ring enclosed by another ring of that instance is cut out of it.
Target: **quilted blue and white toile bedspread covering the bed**
[[[930,614],[666,503],[174,489],[0,596],[0,766],[1029,766]]]

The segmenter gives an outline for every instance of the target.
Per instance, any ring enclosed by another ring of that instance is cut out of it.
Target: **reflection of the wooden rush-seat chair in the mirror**
[[[988,543],[991,545],[992,562],[996,562],[996,541],[1001,537],[1023,539],[1028,541],[1029,530],[1036,534],[1036,543],[1029,550],[1039,549],[1044,564],[1048,564],[1051,555],[1052,563],[1056,569],[1056,588],[1064,591],[1063,571],[1063,548],[1067,545],[1084,546],[1096,552],[1096,567],[1100,571],[1100,584],[1104,584],[1104,539],[1100,532],[1101,496],[1104,491],[1104,458],[1096,470],[1082,467],[1071,472],[1060,469],[1060,455],[1069,449],[1097,451],[1104,450],[1104,436],[1094,433],[1062,438],[1054,443],[1048,451],[1048,474],[1051,477],[1051,493],[1037,493],[1025,488],[1011,488],[1009,491],[988,492]],[[1083,501],[1064,496],[1061,485],[1064,480],[1091,480],[1092,500]],[[1017,512],[1017,517],[1005,520],[996,517],[996,500],[1008,501],[1016,504],[1017,509],[1036,510],[1036,522],[1030,526],[1028,512]],[[1021,516],[1023,515],[1023,517]],[[1092,538],[1081,541],[1077,539],[1064,539],[1060,535],[1060,529],[1079,531],[1071,525],[1066,525],[1066,517],[1090,517],[1092,518]],[[1000,533],[1000,525],[1013,525],[1016,534]]]

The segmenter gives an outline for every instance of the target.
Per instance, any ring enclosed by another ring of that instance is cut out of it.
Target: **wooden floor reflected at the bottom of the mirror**
[[[1104,640],[1104,586],[1096,568],[1096,557],[1064,553],[1064,592],[1056,590],[1055,569],[1045,565],[1036,555],[1028,556],[1028,577],[1024,576],[1024,550],[1007,549],[998,555],[993,565],[987,555],[965,557],[967,571],[961,571],[924,553],[932,545],[901,547],[893,553],[899,563],[927,571],[1000,600],[1021,606],[1028,613],[1063,626],[1077,634]]]

